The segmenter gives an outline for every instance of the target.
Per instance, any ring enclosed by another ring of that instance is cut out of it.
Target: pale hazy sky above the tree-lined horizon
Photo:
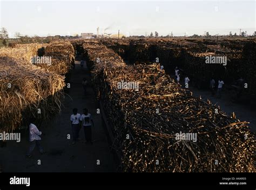
[[[0,26],[9,37],[81,32],[159,36],[255,31],[255,1],[3,1]]]

